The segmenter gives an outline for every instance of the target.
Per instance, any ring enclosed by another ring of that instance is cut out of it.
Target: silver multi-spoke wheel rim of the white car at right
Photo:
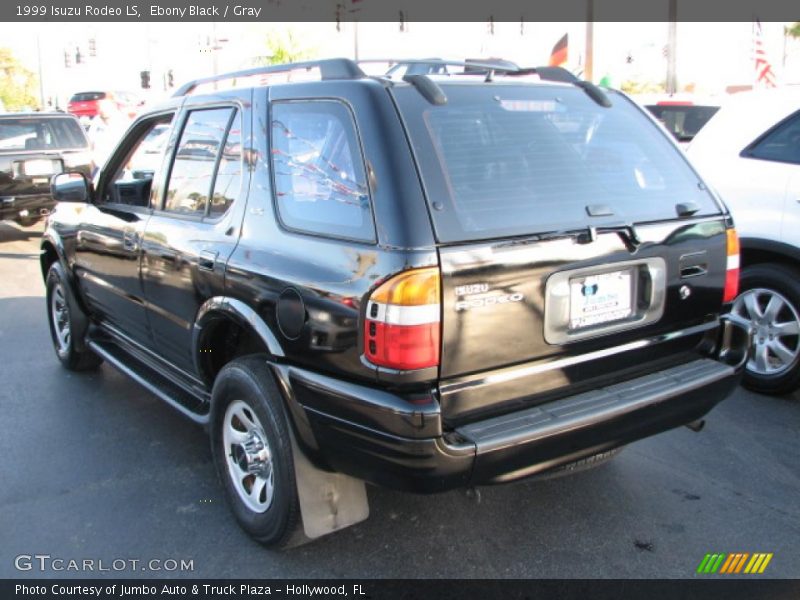
[[[749,321],[754,331],[748,371],[780,375],[795,365],[800,354],[800,316],[783,295],[766,288],[747,290],[736,298],[733,313]]]

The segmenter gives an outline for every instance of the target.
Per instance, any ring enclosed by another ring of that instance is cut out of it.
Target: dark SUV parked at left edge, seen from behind
[[[0,115],[0,219],[32,225],[55,206],[50,178],[89,173],[89,142],[77,119],[64,113]]]

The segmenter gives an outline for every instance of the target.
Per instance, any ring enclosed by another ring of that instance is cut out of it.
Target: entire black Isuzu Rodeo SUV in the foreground
[[[564,72],[460,66],[195,81],[93,183],[54,178],[59,359],[206,425],[265,544],[366,518],[364,481],[506,482],[697,429],[737,384],[736,234],[663,130]]]

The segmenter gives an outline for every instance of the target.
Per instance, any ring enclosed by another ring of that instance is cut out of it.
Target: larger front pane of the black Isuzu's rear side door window
[[[203,216],[233,108],[194,110],[183,127],[167,184],[164,210]]]

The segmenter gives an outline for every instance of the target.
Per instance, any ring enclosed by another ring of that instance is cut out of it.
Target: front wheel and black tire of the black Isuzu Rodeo
[[[83,345],[88,319],[75,302],[59,262],[53,263],[47,271],[46,285],[47,321],[58,360],[70,371],[96,369],[103,359]],[[64,326],[68,330],[66,337],[63,335]]]

